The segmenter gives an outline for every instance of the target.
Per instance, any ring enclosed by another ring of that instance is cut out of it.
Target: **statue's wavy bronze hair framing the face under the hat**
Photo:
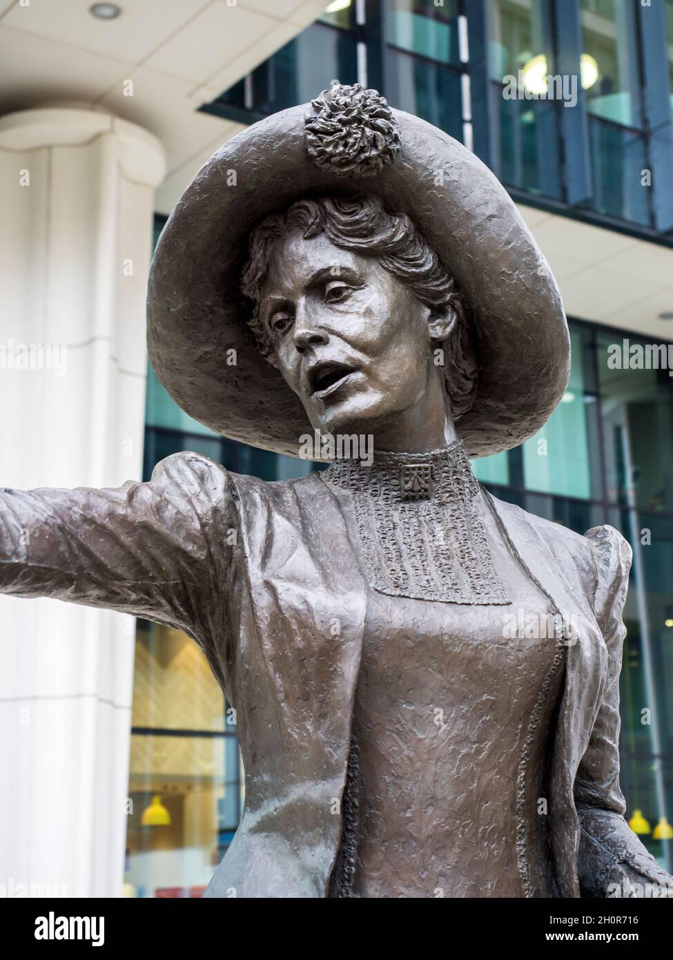
[[[450,311],[456,323],[444,351],[446,392],[454,420],[466,414],[476,396],[478,366],[471,324],[457,284],[430,249],[411,218],[389,213],[378,197],[299,200],[272,214],[252,230],[241,289],[254,304],[248,324],[262,354],[269,359],[273,341],[259,317],[259,302],[274,247],[298,230],[306,239],[324,233],[335,247],[375,257],[430,308]],[[438,342],[439,346],[439,342]]]

